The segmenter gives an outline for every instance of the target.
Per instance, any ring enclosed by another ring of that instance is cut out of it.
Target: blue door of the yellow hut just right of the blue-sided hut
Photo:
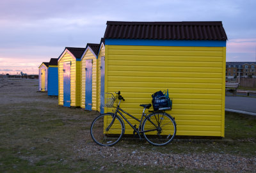
[[[63,63],[63,107],[70,107],[70,66],[71,62]]]

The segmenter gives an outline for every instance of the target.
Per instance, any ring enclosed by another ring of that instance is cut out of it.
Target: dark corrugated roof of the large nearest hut
[[[104,38],[151,40],[227,40],[222,22],[108,21]]]

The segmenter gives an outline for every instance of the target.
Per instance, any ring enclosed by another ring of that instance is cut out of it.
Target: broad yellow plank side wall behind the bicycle
[[[121,107],[141,117],[139,105],[168,89],[173,109],[167,112],[175,117],[177,135],[223,137],[225,54],[225,47],[106,45],[105,92],[121,91]]]

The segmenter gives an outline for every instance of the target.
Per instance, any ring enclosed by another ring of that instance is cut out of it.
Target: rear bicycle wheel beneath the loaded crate
[[[176,134],[176,123],[172,116],[165,112],[149,114],[142,124],[145,139],[154,146],[170,143]]]

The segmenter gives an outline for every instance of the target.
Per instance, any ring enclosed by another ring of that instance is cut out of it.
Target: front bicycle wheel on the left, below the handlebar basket
[[[124,134],[124,123],[119,116],[107,113],[96,117],[91,125],[91,136],[100,146],[115,145]]]

